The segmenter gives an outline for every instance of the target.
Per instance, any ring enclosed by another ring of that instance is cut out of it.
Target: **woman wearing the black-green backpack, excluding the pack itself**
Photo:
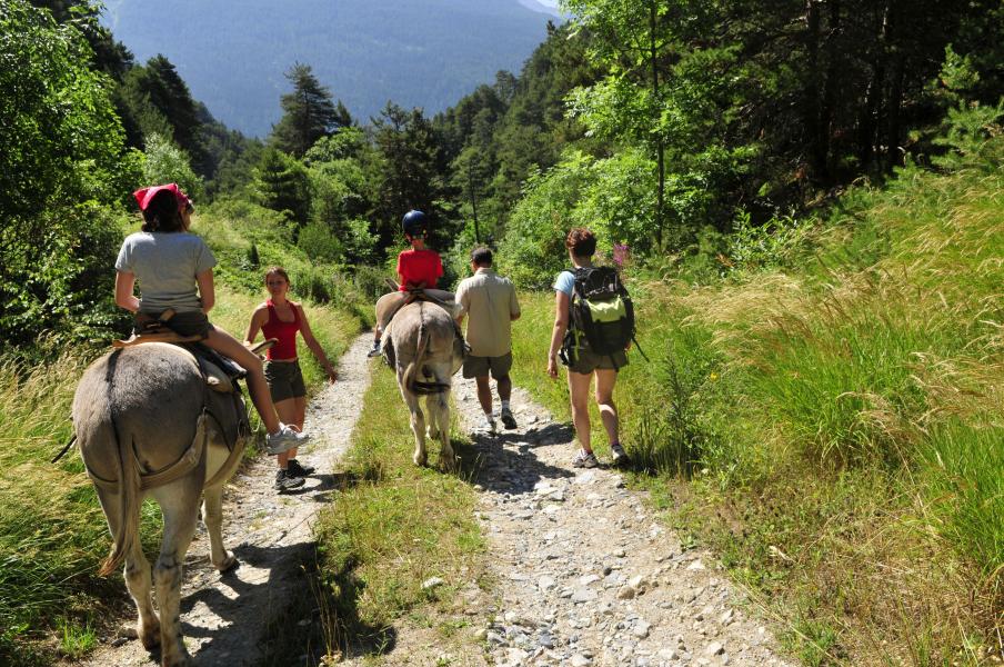
[[[581,286],[590,275],[601,270],[593,267],[592,259],[596,251],[596,237],[589,229],[575,228],[565,238],[565,248],[573,269],[562,271],[554,280],[554,329],[551,334],[551,349],[548,352],[548,375],[558,378],[558,356],[561,351],[562,364],[569,369],[572,422],[580,446],[575,458],[572,459],[572,466],[595,468],[600,465],[590,445],[589,390],[593,376],[596,378],[596,407],[600,409],[600,419],[610,440],[613,465],[624,466],[629,459],[620,442],[613,388],[618,381],[618,370],[628,365],[625,351],[628,344],[624,344],[624,349],[600,354],[590,345],[584,332],[580,330],[581,327],[575,326],[572,318],[573,300],[581,298]],[[576,283],[580,286],[578,296]],[[633,313],[631,319],[633,328]]]

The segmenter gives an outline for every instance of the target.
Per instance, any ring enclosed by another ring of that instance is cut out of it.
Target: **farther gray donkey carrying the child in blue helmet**
[[[429,410],[428,435],[440,440],[440,461],[446,469],[456,466],[450,445],[451,379],[463,364],[463,340],[453,318],[440,306],[415,301],[404,306],[391,320],[394,369],[401,397],[411,412],[415,435],[412,460],[424,466],[426,426],[419,396],[425,396]]]

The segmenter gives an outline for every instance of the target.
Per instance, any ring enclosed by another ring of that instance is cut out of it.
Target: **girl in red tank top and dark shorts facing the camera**
[[[297,430],[302,430],[303,420],[307,417],[307,386],[303,382],[303,372],[300,370],[300,361],[297,358],[298,331],[303,337],[303,342],[324,368],[328,381],[333,382],[338,378],[338,374],[331,366],[331,361],[328,360],[321,344],[314,338],[313,331],[307,322],[303,306],[289,299],[290,277],[285,269],[271,267],[265,271],[265,288],[269,290],[270,298],[260,303],[251,315],[244,346],[251,347],[259,331],[264,335],[265,339],[274,338],[278,341],[267,351],[264,376],[269,382],[269,390],[279,418]],[[310,466],[300,465],[300,461],[297,460],[295,447],[281,452],[278,459],[279,470],[275,474],[274,485],[277,491],[303,486],[303,478],[314,471]]]

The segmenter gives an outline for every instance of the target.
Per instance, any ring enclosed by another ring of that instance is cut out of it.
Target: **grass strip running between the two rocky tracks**
[[[469,442],[455,428],[451,440],[470,460]],[[438,466],[439,446],[429,447],[430,465]],[[381,638],[405,614],[413,623],[442,626],[448,637],[458,623],[449,616],[453,594],[480,576],[478,555],[485,546],[469,471],[419,468],[413,449],[393,372],[373,362],[344,488],[318,525],[323,583],[335,610],[329,636],[338,645],[351,638],[380,653]],[[430,577],[445,584],[423,590]]]

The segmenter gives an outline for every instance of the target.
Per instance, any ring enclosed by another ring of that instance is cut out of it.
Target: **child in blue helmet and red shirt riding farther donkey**
[[[411,210],[401,219],[401,230],[411,248],[398,255],[398,291],[383,295],[376,301],[376,329],[370,357],[380,355],[380,341],[386,326],[402,306],[413,301],[421,292],[453,315],[453,292],[435,289],[443,275],[443,261],[435,250],[425,247],[429,220],[422,211]]]

